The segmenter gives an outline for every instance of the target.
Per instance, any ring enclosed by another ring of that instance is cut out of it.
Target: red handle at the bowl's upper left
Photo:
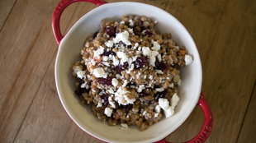
[[[73,2],[91,2],[96,4],[97,6],[107,3],[104,0],[62,0],[60,1],[59,4],[55,7],[55,11],[53,12],[51,17],[51,25],[54,31],[55,40],[57,44],[59,44],[61,39],[64,38],[64,36],[61,35],[60,28],[59,28],[60,16],[62,12],[64,12],[64,9],[68,7],[70,4],[72,4]]]

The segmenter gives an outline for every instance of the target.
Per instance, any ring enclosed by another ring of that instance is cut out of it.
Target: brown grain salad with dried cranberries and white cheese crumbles
[[[73,65],[76,95],[111,126],[136,125],[144,131],[174,113],[179,70],[192,63],[192,56],[156,25],[135,15],[102,21]]]

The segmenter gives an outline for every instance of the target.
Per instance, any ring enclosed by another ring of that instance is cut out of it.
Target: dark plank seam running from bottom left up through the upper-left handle
[[[76,6],[75,9],[77,9],[77,7],[78,7],[78,5]],[[74,15],[75,12],[76,12],[76,11],[73,11],[71,17],[73,17],[73,15]],[[72,18],[69,19],[68,25],[70,25],[71,20],[72,20]],[[65,28],[65,31],[67,31],[68,28],[69,28],[69,26],[67,26],[67,27]],[[40,33],[40,32],[39,32],[39,33]],[[39,37],[39,36],[38,36],[38,37]],[[55,59],[55,56],[56,56],[56,53],[57,53],[57,52],[58,52],[58,46],[57,46],[57,48],[55,49],[55,54],[54,54],[54,56],[51,58],[51,61],[52,61],[53,59]],[[42,78],[43,80],[40,81],[40,85],[43,83],[43,81],[44,81],[44,79],[45,79],[45,76],[46,76],[46,73],[47,73],[47,71],[49,70],[49,68],[50,68],[50,63],[49,63],[49,65],[47,66],[47,69],[45,70],[45,74],[44,74],[44,76],[43,76],[43,78]],[[17,133],[16,133],[15,137],[13,138],[12,143],[14,143],[14,142],[16,141],[16,139],[17,139],[17,135],[19,134],[19,131],[21,130],[21,127],[22,127],[23,122],[25,121],[26,115],[27,115],[27,113],[29,112],[29,110],[30,110],[30,108],[31,108],[31,105],[33,104],[34,99],[36,99],[36,95],[37,95],[37,93],[38,93],[38,91],[39,91],[39,89],[40,89],[40,85],[38,86],[38,88],[37,88],[37,90],[36,90],[35,96],[34,96],[33,99],[31,100],[31,104],[29,105],[29,108],[26,110],[25,116],[24,116],[24,118],[22,119],[21,125],[20,125],[20,127],[18,128]]]

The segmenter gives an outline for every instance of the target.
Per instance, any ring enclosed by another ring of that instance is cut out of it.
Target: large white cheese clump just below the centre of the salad
[[[120,87],[116,93],[115,93],[115,100],[118,104],[127,105],[127,104],[133,104],[136,99],[130,99],[127,94],[130,93],[129,91],[123,90],[122,87]]]

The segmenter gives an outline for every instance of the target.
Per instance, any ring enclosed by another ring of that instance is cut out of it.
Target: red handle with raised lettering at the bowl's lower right
[[[211,109],[206,104],[206,100],[204,99],[202,93],[201,93],[200,99],[198,100],[197,105],[200,106],[202,113],[204,115],[205,121],[203,122],[201,131],[197,134],[197,136],[192,138],[190,141],[185,141],[185,143],[202,143],[202,142],[206,141],[207,137],[211,133],[212,122],[213,122],[212,113],[211,113]],[[157,141],[155,143],[170,143],[170,142],[165,141],[165,139],[164,139],[161,141]]]

